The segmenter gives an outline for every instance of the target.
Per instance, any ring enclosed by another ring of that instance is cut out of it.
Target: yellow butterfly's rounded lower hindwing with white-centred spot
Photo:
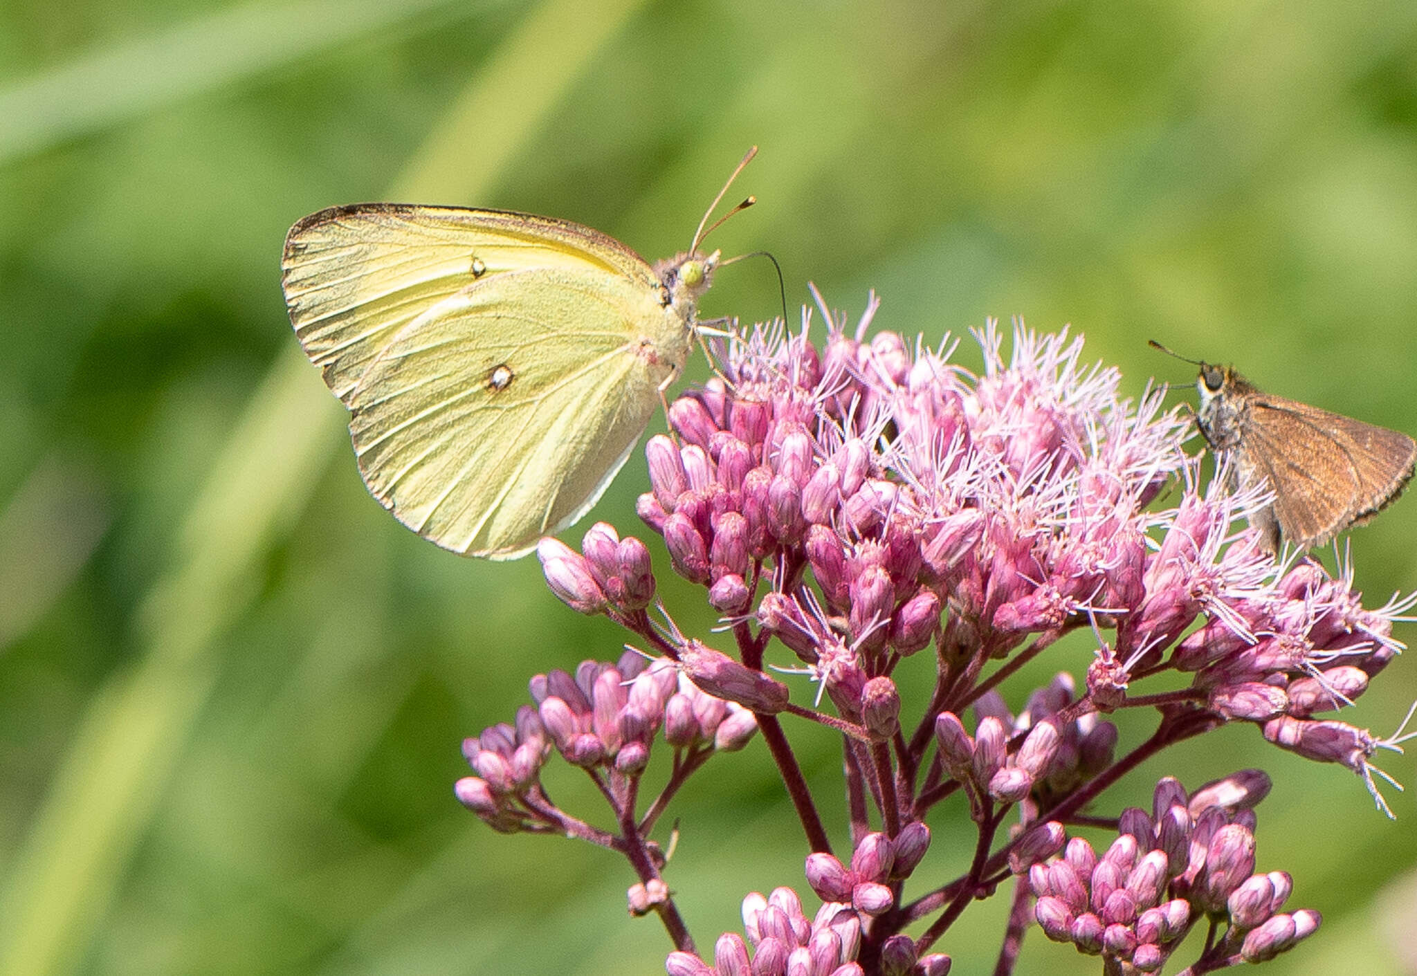
[[[669,360],[640,356],[646,322]],[[687,353],[674,331],[656,290],[584,268],[449,296],[384,343],[349,397],[364,480],[445,548],[520,555],[623,463]]]

